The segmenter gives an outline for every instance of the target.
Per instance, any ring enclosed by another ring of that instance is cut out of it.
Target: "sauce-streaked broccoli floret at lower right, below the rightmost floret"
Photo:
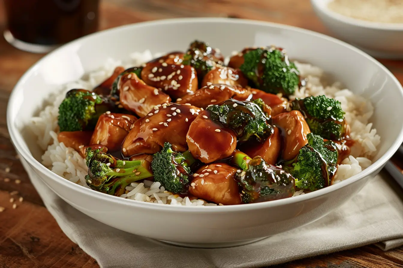
[[[296,160],[284,166],[295,177],[295,186],[315,191],[329,186],[336,172],[338,151],[333,141],[324,142],[318,135],[309,133],[307,140]]]

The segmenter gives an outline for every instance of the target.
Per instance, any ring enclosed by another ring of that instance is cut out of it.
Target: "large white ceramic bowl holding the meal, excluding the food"
[[[95,70],[108,57],[133,51],[186,49],[201,39],[224,55],[245,46],[276,44],[293,58],[320,66],[375,106],[374,127],[382,137],[375,162],[363,172],[327,188],[265,203],[217,207],[177,207],[142,203],[89,190],[39,163],[42,151],[27,122],[63,83]],[[18,152],[40,178],[79,211],[116,227],[154,239],[193,246],[237,245],[300,227],[323,217],[375,176],[403,140],[403,91],[397,79],[366,53],[325,35],[251,20],[197,18],[160,20],[102,31],[46,55],[15,86],[7,123]],[[211,244],[212,243],[212,244]]]

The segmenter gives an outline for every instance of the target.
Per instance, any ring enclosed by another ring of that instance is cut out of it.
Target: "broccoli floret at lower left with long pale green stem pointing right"
[[[97,150],[87,151],[87,185],[93,190],[120,196],[126,186],[137,180],[152,177],[151,163],[147,160],[125,161]]]

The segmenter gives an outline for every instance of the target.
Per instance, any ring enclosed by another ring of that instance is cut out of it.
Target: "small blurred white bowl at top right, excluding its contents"
[[[340,39],[374,57],[403,59],[403,23],[376,23],[343,16],[328,8],[332,0],[311,0],[322,20]]]

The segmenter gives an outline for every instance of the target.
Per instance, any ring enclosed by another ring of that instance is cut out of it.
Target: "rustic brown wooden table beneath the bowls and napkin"
[[[1,14],[0,7],[2,32],[5,23]],[[101,29],[161,18],[231,16],[329,34],[315,16],[309,0],[107,0],[101,4],[100,16]],[[20,76],[40,57],[14,49],[0,38],[0,207],[4,207],[0,213],[0,268],[99,267],[64,235],[48,213],[15,156],[7,132],[8,96]],[[403,62],[381,62],[403,82]],[[276,267],[403,267],[403,247],[383,252],[368,245]]]

